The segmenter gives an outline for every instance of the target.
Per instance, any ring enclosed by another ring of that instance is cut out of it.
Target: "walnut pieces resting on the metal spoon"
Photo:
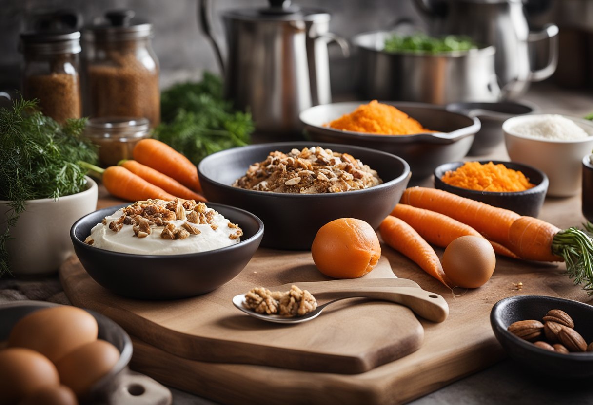
[[[317,308],[315,297],[296,285],[292,285],[290,291],[253,288],[245,294],[244,304],[259,314],[279,314],[286,317],[304,316]]]

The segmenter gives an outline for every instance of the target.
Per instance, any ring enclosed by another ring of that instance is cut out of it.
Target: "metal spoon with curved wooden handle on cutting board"
[[[350,281],[350,280],[344,280]],[[279,315],[259,314],[247,308],[245,303],[245,294],[235,295],[232,298],[232,303],[249,316],[257,319],[263,319],[268,322],[276,323],[301,323],[314,319],[321,314],[329,304],[336,301],[345,300],[346,298],[374,298],[376,300],[391,301],[393,303],[402,304],[409,307],[419,316],[431,320],[433,322],[442,322],[449,314],[449,306],[447,301],[441,295],[422,290],[419,287],[349,287],[349,285],[340,285],[340,281],[335,281],[331,291],[321,291],[318,293],[311,293],[319,300],[322,297],[333,298],[323,305],[318,305],[314,311],[311,311],[305,316],[299,317],[285,317]],[[345,283],[346,284],[346,283]],[[298,285],[300,287],[300,285]],[[324,287],[329,287],[328,285]],[[302,287],[301,287],[302,288]]]

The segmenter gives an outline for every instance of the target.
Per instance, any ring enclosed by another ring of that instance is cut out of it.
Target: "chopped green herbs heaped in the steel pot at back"
[[[389,53],[442,53],[467,51],[476,47],[476,44],[471,38],[462,36],[448,35],[437,38],[426,34],[413,34],[409,36],[394,34],[385,40],[383,50]]]

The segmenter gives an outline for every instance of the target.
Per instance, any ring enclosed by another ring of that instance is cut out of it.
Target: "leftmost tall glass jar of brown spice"
[[[23,97],[38,99],[43,114],[60,124],[81,117],[79,31],[21,34]]]

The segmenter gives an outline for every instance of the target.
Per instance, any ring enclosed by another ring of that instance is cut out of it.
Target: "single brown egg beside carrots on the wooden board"
[[[442,266],[451,287],[477,288],[492,277],[496,255],[483,237],[461,236],[445,249]]]

